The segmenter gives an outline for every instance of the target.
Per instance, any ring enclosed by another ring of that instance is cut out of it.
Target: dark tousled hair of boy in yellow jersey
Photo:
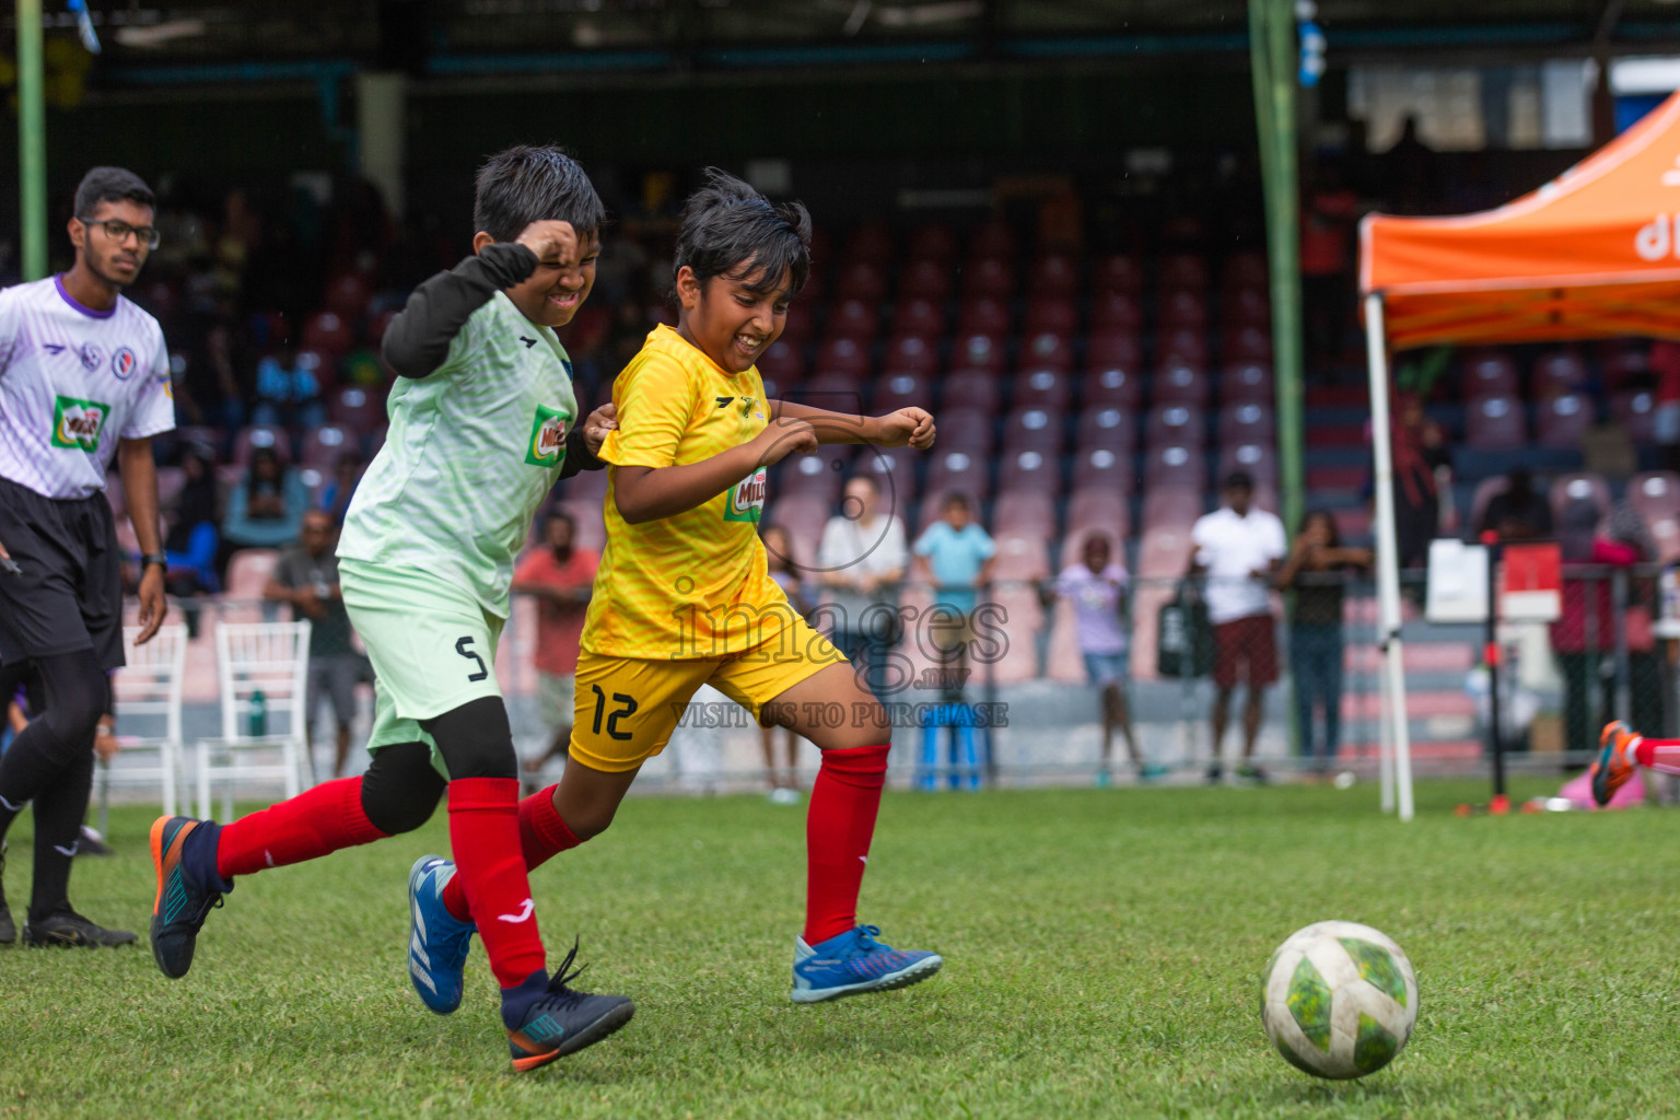
[[[687,265],[702,287],[721,275],[754,280],[744,287],[763,296],[788,277],[788,297],[798,296],[811,274],[811,215],[796,201],[771,203],[727,171],[706,168],[704,178],[682,207],[672,279]]]

